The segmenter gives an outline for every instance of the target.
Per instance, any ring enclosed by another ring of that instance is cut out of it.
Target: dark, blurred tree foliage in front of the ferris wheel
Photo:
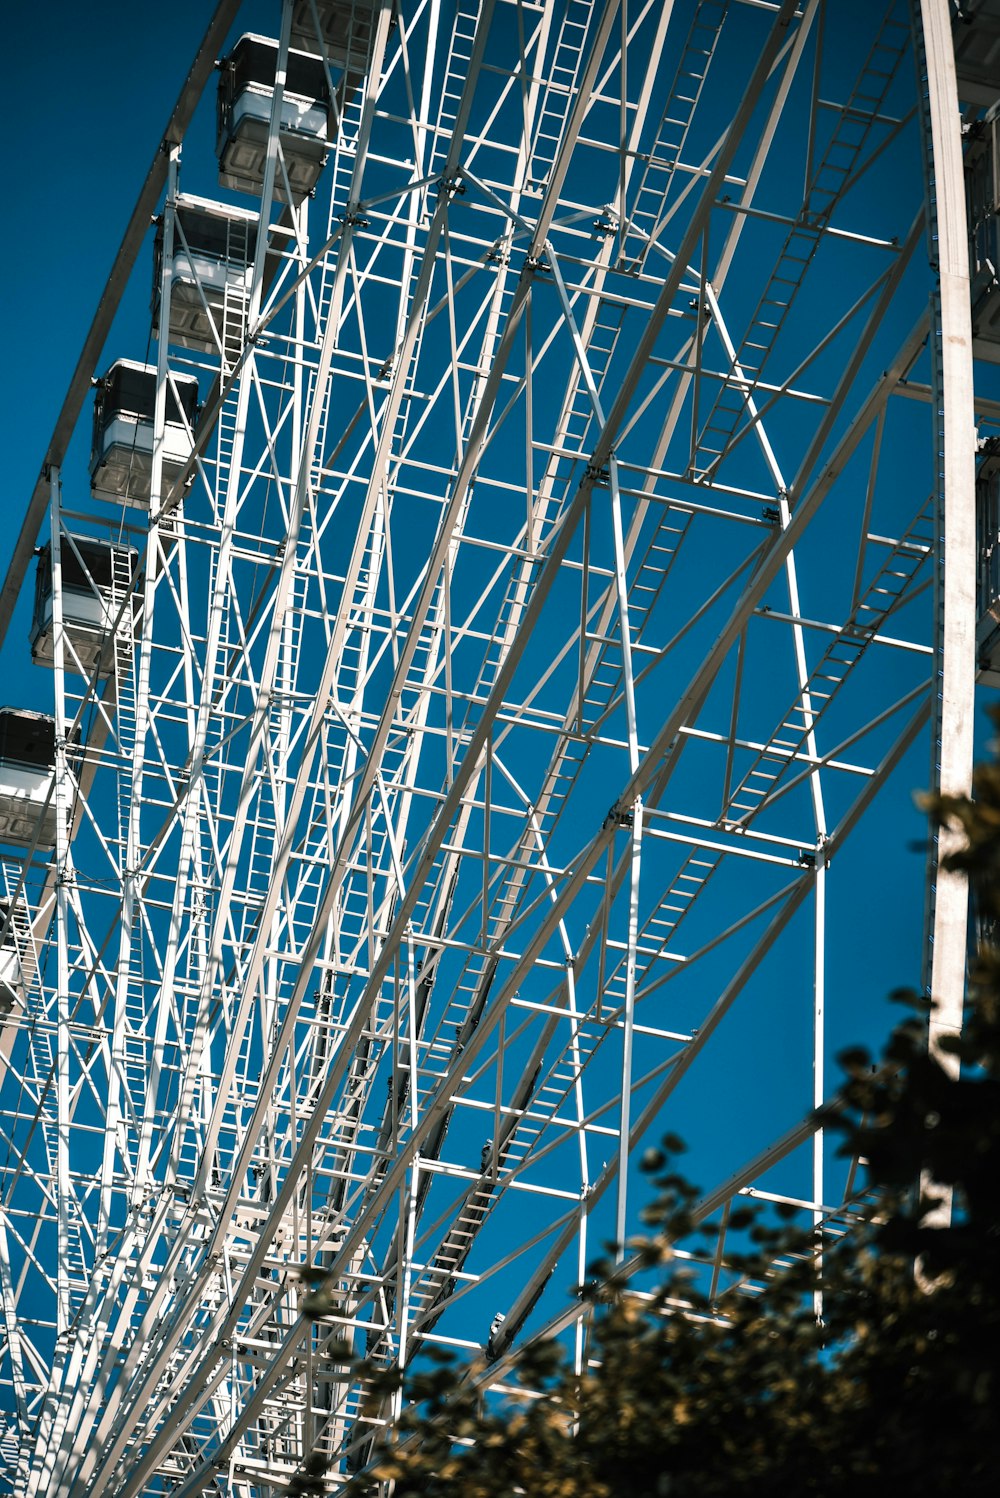
[[[933,813],[964,830],[952,857],[1000,929],[1000,767],[973,800]],[[810,1242],[759,1218],[734,1221],[738,1267],[765,1294],[710,1305],[672,1245],[692,1231],[696,1192],[668,1153],[650,1159],[650,1234],[633,1245],[653,1293],[600,1264],[590,1359],[575,1375],[558,1344],[525,1348],[531,1398],[485,1396],[481,1360],[424,1363],[413,1404],[350,1492],[397,1498],[713,1498],[997,1491],[1000,1479],[1000,950],[970,975],[958,1077],[928,1055],[925,1013],[895,1029],[880,1067],[847,1053],[843,1150],[867,1159],[874,1204],[823,1257],[823,1323]],[[931,1227],[934,1188],[951,1224]],[[740,1209],[743,1210],[743,1209]],[[708,1230],[705,1230],[708,1231]],[[784,1267],[774,1269],[775,1260]],[[916,1266],[916,1272],[915,1272]],[[647,1273],[648,1279],[648,1273]],[[684,1308],[683,1311],[678,1308]],[[392,1380],[377,1369],[382,1393]]]

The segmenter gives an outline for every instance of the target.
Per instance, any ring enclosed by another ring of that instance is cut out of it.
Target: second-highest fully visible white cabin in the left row
[[[243,328],[253,258],[257,252],[257,214],[205,198],[178,198],[171,258],[171,343],[202,354],[219,354],[229,342],[229,322]],[[159,337],[163,222],[156,232],[153,318]]]

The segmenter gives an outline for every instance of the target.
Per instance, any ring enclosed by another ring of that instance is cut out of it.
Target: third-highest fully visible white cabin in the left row
[[[90,457],[91,490],[97,499],[148,508],[153,478],[153,416],[156,367],[117,360],[97,382],[94,437]],[[198,380],[174,374],[166,386],[163,490],[174,484],[193,451]]]

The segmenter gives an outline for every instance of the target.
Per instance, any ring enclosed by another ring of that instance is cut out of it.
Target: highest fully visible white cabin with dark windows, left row
[[[247,33],[220,63],[217,151],[223,187],[260,192],[277,60],[277,42]],[[278,130],[281,162],[274,177],[280,202],[287,202],[289,193],[292,202],[301,202],[316,186],[326,160],[329,108],[322,58],[289,51]]]

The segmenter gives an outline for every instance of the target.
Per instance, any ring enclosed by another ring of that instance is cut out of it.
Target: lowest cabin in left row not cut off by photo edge
[[[60,548],[64,665],[76,674],[109,676],[114,671],[115,640],[132,652],[132,581],[139,553],[109,541],[64,536]],[[124,605],[124,607],[123,607]],[[52,547],[39,551],[34,574],[34,614],[31,619],[31,659],[36,665],[54,664],[52,635]]]

